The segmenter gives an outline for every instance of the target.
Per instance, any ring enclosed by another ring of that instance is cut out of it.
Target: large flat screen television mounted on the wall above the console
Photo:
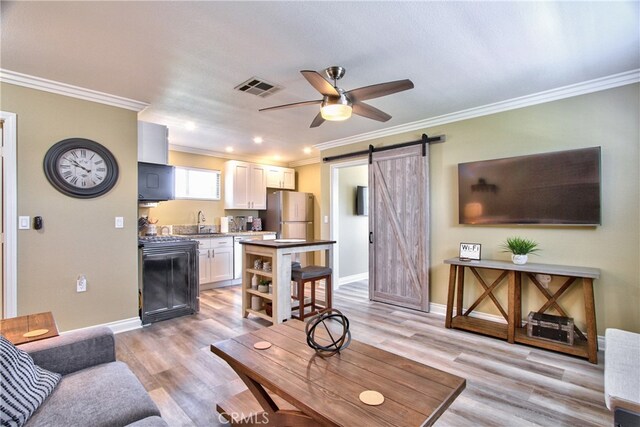
[[[458,164],[460,224],[600,225],[600,147]]]

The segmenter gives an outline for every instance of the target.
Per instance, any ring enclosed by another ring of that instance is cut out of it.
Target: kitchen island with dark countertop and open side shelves
[[[242,316],[249,314],[266,319],[274,324],[282,323],[291,317],[291,262],[299,253],[324,251],[327,267],[332,266],[333,240],[247,240],[242,244]],[[256,269],[255,261],[270,262],[271,271]],[[251,288],[251,278],[270,280],[272,292],[265,293]],[[333,278],[332,278],[333,279]],[[333,282],[333,280],[332,280]],[[270,301],[272,313],[266,310],[251,309],[251,297],[258,296],[263,301]]]

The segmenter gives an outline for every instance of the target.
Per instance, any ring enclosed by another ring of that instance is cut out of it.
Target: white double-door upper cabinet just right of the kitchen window
[[[267,170],[265,166],[230,160],[224,165],[224,208],[266,209]]]

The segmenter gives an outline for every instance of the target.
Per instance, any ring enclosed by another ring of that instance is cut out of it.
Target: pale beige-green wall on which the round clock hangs
[[[63,331],[136,317],[137,113],[6,83],[0,109],[17,114],[18,215],[44,221],[40,231],[17,232],[18,315],[52,311]],[[76,199],[49,184],[44,155],[71,137],[114,154],[120,176],[110,192]],[[116,216],[124,228],[114,227]],[[80,274],[83,293],[76,292]]]

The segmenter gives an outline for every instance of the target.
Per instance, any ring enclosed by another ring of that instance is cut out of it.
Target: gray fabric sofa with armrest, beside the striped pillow
[[[126,364],[116,361],[109,328],[97,327],[18,346],[62,374],[25,426],[167,426]]]

